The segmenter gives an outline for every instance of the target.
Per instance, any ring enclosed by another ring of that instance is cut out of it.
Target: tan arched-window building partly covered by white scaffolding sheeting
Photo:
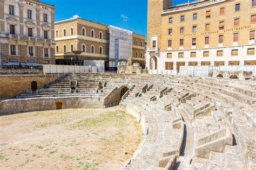
[[[55,23],[56,64],[96,65],[116,70],[119,61],[145,62],[145,37],[82,18]]]

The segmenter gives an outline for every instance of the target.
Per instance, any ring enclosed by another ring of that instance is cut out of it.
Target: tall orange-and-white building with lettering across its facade
[[[149,0],[147,69],[256,65],[256,0]]]

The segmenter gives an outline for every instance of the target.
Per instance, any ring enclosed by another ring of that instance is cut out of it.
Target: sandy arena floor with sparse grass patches
[[[143,134],[134,117],[116,109],[65,109],[0,117],[0,169],[120,168]]]

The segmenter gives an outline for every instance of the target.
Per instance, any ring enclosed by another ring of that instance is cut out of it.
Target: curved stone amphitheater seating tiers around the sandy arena
[[[136,117],[143,135],[134,138],[138,147],[122,162],[123,169],[256,169],[253,79],[69,74],[33,93],[1,100],[0,108],[1,115],[70,108],[125,111]]]

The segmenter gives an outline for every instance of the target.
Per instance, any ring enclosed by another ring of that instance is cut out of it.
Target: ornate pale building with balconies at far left
[[[0,0],[0,69],[55,64],[55,6]]]

